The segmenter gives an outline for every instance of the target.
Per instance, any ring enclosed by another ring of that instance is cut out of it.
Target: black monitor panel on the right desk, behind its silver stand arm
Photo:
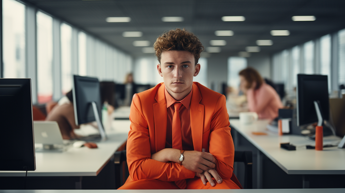
[[[297,125],[317,122],[314,101],[321,104],[324,120],[329,119],[327,75],[297,75]]]

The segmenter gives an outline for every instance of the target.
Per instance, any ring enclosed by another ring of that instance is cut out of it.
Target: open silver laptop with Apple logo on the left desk
[[[33,131],[36,150],[63,151],[71,144],[71,142],[62,139],[56,121],[33,121]]]

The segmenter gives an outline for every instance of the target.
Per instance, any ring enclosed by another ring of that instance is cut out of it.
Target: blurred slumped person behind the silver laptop
[[[58,122],[61,135],[63,139],[78,139],[80,136],[74,132],[74,129],[79,129],[76,125],[72,90],[63,96],[57,105],[47,115],[46,121]]]

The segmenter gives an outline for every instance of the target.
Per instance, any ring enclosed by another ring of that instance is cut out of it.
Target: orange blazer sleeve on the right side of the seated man
[[[221,95],[211,119],[209,152],[217,159],[218,174],[225,179],[230,179],[234,171],[235,148],[229,125],[226,99],[224,95]]]

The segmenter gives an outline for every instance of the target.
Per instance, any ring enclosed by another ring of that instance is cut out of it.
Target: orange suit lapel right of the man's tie
[[[190,127],[195,151],[201,151],[203,145],[204,105],[200,104],[201,94],[198,86],[193,83],[190,101]]]

